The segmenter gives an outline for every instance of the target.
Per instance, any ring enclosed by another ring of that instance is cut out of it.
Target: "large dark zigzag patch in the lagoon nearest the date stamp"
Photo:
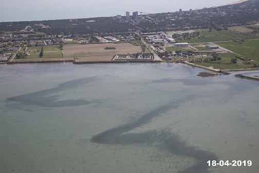
[[[178,170],[179,173],[208,173],[208,160],[218,161],[217,156],[212,152],[200,150],[193,146],[188,146],[186,142],[181,140],[180,137],[175,133],[171,133],[166,130],[159,132],[153,130],[144,133],[123,134],[134,128],[138,128],[142,125],[150,123],[153,118],[160,116],[162,113],[165,113],[171,109],[177,109],[182,104],[182,102],[186,102],[190,100],[190,98],[196,98],[196,96],[189,95],[178,101],[172,101],[167,105],[163,105],[144,114],[135,122],[101,132],[93,136],[90,141],[98,144],[108,145],[153,144],[161,150],[167,150],[172,154],[193,158],[197,161],[197,163],[192,166]]]

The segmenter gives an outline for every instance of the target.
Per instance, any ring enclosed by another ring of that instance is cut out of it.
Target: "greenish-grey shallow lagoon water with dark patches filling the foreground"
[[[171,63],[0,68],[0,172],[259,170],[257,81]]]

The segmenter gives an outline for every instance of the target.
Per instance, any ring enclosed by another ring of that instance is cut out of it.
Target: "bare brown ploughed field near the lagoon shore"
[[[116,49],[104,49],[104,47]],[[117,54],[134,54],[142,51],[141,46],[130,43],[73,44],[63,46],[64,58],[78,58],[80,61],[110,61]]]

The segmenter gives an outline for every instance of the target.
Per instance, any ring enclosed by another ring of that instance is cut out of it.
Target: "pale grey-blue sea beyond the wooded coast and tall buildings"
[[[125,11],[159,13],[226,5],[237,0],[12,0],[1,2],[0,22],[91,18],[125,15]]]

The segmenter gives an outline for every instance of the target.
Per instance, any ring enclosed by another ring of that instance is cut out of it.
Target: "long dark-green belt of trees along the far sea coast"
[[[254,24],[258,21],[258,10],[254,11],[251,9],[259,9],[258,1],[247,1],[245,2],[247,7],[240,7],[241,4],[217,7],[220,11],[225,11],[226,15],[211,15],[211,12],[217,13],[217,8],[205,8],[200,9],[201,13],[184,13],[182,20],[167,20],[168,16],[172,18],[179,15],[178,13],[157,13],[152,14],[150,21],[140,22],[137,25],[133,25],[130,22],[122,22],[113,17],[101,17],[101,18],[88,18],[79,19],[77,22],[69,22],[69,20],[46,20],[46,21],[23,21],[23,22],[2,22],[0,23],[0,34],[19,34],[19,31],[24,29],[26,26],[33,24],[43,24],[49,26],[49,28],[35,28],[40,32],[45,32],[48,35],[65,34],[93,34],[93,33],[114,33],[114,32],[127,32],[134,30],[141,30],[142,32],[155,32],[155,31],[167,31],[167,30],[184,30],[184,29],[201,29],[208,28],[223,30],[227,29],[226,26],[234,25],[247,25]],[[238,10],[237,14],[233,14],[233,10]],[[206,13],[207,12],[207,13]],[[86,22],[96,21],[96,22]],[[155,22],[152,22],[155,21]],[[200,37],[199,34],[195,36],[187,36],[186,38]],[[42,38],[44,34],[38,34],[38,37]]]

